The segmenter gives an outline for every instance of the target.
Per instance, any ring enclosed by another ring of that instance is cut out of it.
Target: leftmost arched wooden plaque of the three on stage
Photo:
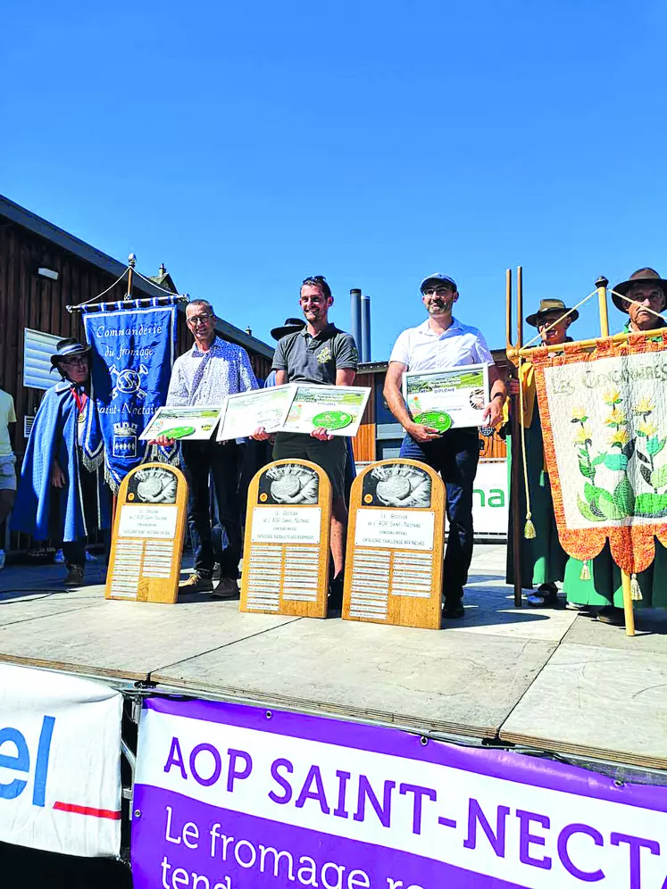
[[[142,463],[123,478],[113,519],[107,599],[176,602],[187,503],[188,482],[167,463]]]

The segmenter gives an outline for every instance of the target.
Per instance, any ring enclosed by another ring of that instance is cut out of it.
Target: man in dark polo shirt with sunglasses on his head
[[[321,383],[328,386],[352,386],[359,356],[350,334],[329,323],[333,304],[331,289],[325,278],[305,278],[299,304],[304,312],[305,327],[279,340],[273,356],[276,385],[285,383]],[[265,438],[258,429],[255,438]],[[274,460],[311,460],[327,473],[333,489],[331,507],[331,556],[334,580],[329,605],[342,602],[342,576],[345,561],[347,509],[344,498],[346,441],[330,436],[326,429],[304,433],[279,432],[273,447]],[[340,601],[339,601],[340,600]]]

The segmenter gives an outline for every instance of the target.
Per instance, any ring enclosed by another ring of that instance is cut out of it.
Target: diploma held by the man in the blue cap
[[[403,397],[415,423],[446,432],[479,427],[488,404],[488,364],[405,371]]]

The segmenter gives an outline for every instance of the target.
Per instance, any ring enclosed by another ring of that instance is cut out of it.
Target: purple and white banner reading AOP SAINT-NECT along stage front
[[[133,810],[137,889],[667,889],[663,787],[236,704],[146,702]]]

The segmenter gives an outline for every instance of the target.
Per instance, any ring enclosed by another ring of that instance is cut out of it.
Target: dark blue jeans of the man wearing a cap
[[[477,429],[450,429],[424,444],[405,436],[400,456],[426,463],[445,482],[449,539],[442,588],[445,601],[455,604],[463,597],[472,559],[472,486],[479,462]]]

